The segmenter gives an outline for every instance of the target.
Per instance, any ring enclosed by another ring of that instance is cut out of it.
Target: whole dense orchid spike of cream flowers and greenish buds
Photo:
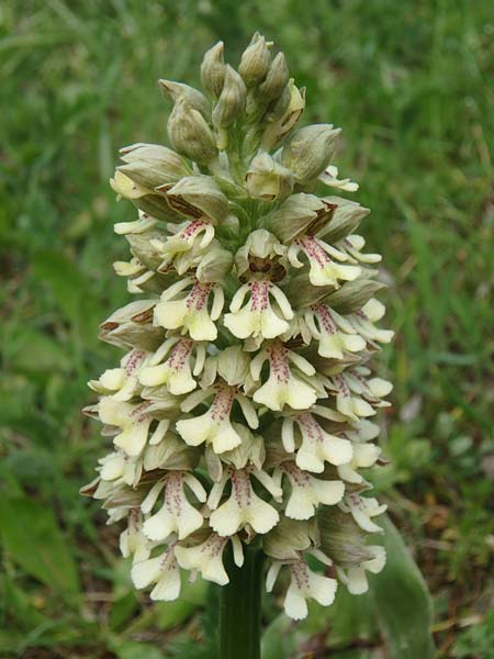
[[[391,390],[367,366],[392,338],[380,256],[355,233],[368,210],[334,194],[357,189],[332,164],[339,130],[297,127],[305,92],[282,53],[255,34],[235,70],[218,43],[201,79],[204,93],[160,81],[171,148],[123,148],[111,180],[138,209],[115,225],[132,258],[114,268],[139,298],[101,325],[125,354],[90,382],[113,448],[82,491],[126,522],[151,599],[179,596],[184,570],[227,583],[225,551],[242,566],[255,544],[302,618],[384,565],[368,536],[385,506],[361,473]]]

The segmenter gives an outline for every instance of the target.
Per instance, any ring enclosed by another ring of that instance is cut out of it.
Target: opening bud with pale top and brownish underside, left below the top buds
[[[175,186],[158,188],[170,208],[188,217],[206,217],[214,224],[228,214],[228,199],[211,176],[186,176]]]

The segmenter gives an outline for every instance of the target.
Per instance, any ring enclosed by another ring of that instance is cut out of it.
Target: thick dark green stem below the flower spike
[[[229,583],[221,590],[220,659],[260,659],[262,551],[244,547],[242,568],[225,554]]]

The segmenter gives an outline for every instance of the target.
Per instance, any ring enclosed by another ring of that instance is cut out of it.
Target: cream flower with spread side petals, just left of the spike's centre
[[[231,421],[234,401],[238,402],[249,427],[256,429],[259,422],[250,401],[237,388],[223,381],[189,395],[182,403],[183,412],[190,412],[211,396],[214,398],[209,410],[200,416],[178,421],[177,432],[189,446],[211,444],[213,450],[221,454],[242,443],[240,435]]]

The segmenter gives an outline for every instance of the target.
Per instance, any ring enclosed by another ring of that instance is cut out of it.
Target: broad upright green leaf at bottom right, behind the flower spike
[[[371,577],[370,594],[390,659],[433,659],[433,602],[424,578],[402,536],[384,515],[384,570]],[[378,540],[379,541],[379,540]]]

